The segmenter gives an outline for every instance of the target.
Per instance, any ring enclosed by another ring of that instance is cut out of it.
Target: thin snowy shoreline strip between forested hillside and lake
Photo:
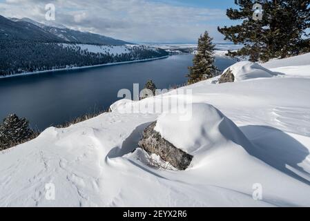
[[[6,79],[10,77],[23,77],[23,76],[30,76],[30,75],[39,75],[43,73],[53,73],[53,72],[59,72],[64,70],[80,70],[80,69],[87,69],[87,68],[98,68],[98,67],[104,67],[104,66],[117,66],[121,64],[133,64],[133,63],[139,63],[139,62],[147,62],[147,61],[155,61],[159,59],[166,59],[170,57],[169,55],[163,56],[163,57],[155,57],[155,58],[149,58],[149,59],[140,59],[135,61],[122,61],[122,62],[115,62],[115,63],[107,63],[107,64],[96,64],[93,66],[81,66],[81,67],[73,67],[73,68],[58,68],[55,70],[39,70],[36,72],[30,72],[30,73],[19,73],[16,75],[6,75],[6,76],[0,76],[0,79]]]

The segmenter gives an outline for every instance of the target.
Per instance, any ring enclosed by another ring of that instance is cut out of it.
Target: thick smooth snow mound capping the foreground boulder
[[[205,155],[211,148],[220,148],[227,142],[235,142],[241,146],[249,145],[238,126],[209,104],[193,104],[191,119],[182,121],[180,108],[164,113],[157,119],[155,131],[194,157]]]

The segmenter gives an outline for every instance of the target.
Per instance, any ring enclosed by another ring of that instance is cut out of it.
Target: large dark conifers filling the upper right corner
[[[260,3],[262,19],[253,19],[253,6]],[[310,51],[309,0],[235,0],[238,9],[229,8],[229,19],[236,26],[218,28],[226,40],[244,44],[233,56],[249,56],[251,61],[268,61]]]

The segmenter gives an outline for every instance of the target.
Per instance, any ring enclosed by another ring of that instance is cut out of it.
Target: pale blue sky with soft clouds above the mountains
[[[0,0],[0,15],[44,23],[48,3],[56,23],[135,43],[195,43],[205,30],[220,43],[217,26],[234,23],[234,0]]]

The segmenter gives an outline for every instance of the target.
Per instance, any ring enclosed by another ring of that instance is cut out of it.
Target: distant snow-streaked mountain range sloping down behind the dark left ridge
[[[81,43],[81,44],[103,44],[103,45],[115,45],[115,46],[130,44],[129,42],[113,39],[111,37],[106,37],[103,35],[72,30],[66,28],[66,26],[54,22],[48,22],[46,24],[43,24],[28,18],[23,19],[11,18],[11,20],[32,23],[33,25],[42,28],[46,32],[49,32],[50,34],[55,35],[66,42]]]

